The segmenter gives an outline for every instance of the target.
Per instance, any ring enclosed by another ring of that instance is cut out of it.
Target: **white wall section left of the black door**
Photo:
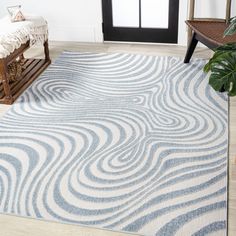
[[[22,11],[44,16],[51,40],[102,42],[100,0],[0,0],[0,17],[6,6],[22,5]]]

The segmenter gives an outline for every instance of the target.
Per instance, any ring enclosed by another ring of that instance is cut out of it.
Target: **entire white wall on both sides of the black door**
[[[179,44],[186,44],[189,0],[180,0]],[[44,16],[49,23],[51,40],[102,42],[101,0],[1,0],[0,17],[7,14],[6,6],[21,4],[24,12]],[[196,0],[196,16],[224,17],[225,0]],[[236,15],[233,0],[232,15]]]

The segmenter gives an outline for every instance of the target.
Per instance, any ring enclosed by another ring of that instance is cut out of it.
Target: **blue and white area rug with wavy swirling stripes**
[[[0,212],[225,235],[228,99],[204,63],[63,53],[0,120]]]

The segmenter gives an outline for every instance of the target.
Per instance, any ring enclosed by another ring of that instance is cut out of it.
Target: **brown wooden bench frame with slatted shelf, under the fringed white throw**
[[[44,43],[45,59],[25,59],[24,52],[29,49],[30,42],[21,45],[6,58],[0,59],[0,103],[12,104],[17,97],[44,71],[51,63],[49,57],[48,41]],[[16,81],[9,81],[7,66],[20,57],[23,64],[21,77]]]

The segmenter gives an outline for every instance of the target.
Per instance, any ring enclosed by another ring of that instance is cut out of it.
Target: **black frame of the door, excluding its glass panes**
[[[169,1],[170,3],[168,29],[153,29],[141,28],[141,20],[139,20],[139,28],[113,27],[112,0],[102,0],[104,41],[177,43],[179,0]],[[139,6],[141,6],[141,0],[139,0]]]

